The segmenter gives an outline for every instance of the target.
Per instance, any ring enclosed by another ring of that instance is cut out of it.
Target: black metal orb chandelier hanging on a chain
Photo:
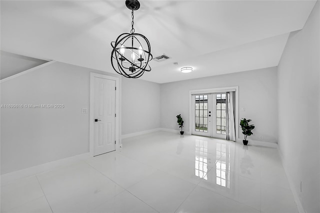
[[[138,78],[144,71],[151,71],[148,62],[152,60],[151,46],[148,39],[139,33],[134,33],[133,10],[140,7],[137,0],[126,0],[125,5],[131,10],[131,31],[120,34],[111,42],[111,64],[113,69],[129,78]]]

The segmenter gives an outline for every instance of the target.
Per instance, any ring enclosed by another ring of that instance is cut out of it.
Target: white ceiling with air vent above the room
[[[1,50],[113,72],[110,42],[131,27],[125,0],[1,0]],[[140,0],[135,32],[150,41],[164,83],[276,66],[316,0]],[[178,62],[174,65],[173,62]],[[181,73],[192,66],[191,73]]]

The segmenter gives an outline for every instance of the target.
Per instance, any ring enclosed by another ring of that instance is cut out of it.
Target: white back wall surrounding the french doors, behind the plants
[[[239,118],[252,119],[253,135],[248,139],[277,142],[277,68],[182,80],[161,84],[161,127],[179,129],[176,115],[181,113],[184,131],[189,127],[189,90],[239,86]],[[182,73],[181,73],[182,74]],[[242,134],[240,134],[242,138]]]

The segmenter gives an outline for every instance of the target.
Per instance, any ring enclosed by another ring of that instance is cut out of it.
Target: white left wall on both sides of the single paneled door
[[[90,72],[54,62],[1,82],[1,104],[64,104],[64,108],[1,108],[1,174],[89,151]],[[122,81],[122,82],[121,82]],[[160,127],[160,85],[120,80],[120,133]],[[122,103],[121,103],[122,100]]]

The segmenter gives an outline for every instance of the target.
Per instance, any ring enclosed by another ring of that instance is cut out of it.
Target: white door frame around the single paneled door
[[[104,79],[109,79],[109,80],[115,80],[115,150],[118,148],[119,144],[120,144],[120,140],[119,140],[119,126],[120,126],[120,122],[119,122],[119,78],[118,77],[113,77],[113,76],[109,76],[109,75],[105,75],[105,74],[98,74],[95,72],[90,72],[90,108],[89,108],[89,153],[90,156],[93,156],[93,149],[94,149],[94,127],[93,127],[93,120],[94,120],[94,114],[93,114],[93,105],[94,105],[94,77],[100,77],[100,78],[104,78]],[[91,110],[92,109],[92,110]]]

